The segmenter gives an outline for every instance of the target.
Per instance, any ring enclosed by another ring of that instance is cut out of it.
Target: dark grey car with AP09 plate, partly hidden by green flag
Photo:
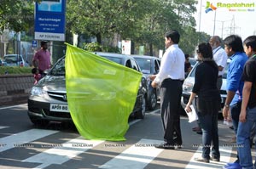
[[[122,54],[96,53],[104,58],[139,70],[135,59]],[[146,110],[145,93],[147,92],[146,78],[142,81],[137,93],[137,101],[132,115],[143,118]],[[32,123],[46,125],[49,121],[72,121],[67,105],[65,81],[65,57],[59,59],[51,70],[35,86],[32,87],[28,99],[28,116]]]

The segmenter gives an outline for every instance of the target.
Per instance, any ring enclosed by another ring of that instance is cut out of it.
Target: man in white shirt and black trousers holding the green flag
[[[160,71],[151,76],[152,87],[160,85],[160,111],[165,131],[160,149],[175,149],[182,147],[180,130],[180,100],[184,79],[185,56],[178,48],[179,33],[175,30],[166,33],[166,52],[161,59]]]

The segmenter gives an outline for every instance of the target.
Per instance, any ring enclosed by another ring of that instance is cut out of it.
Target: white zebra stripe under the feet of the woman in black
[[[195,158],[201,158],[202,149],[199,147],[195,154],[192,156],[189,164],[185,167],[185,169],[214,169],[214,168],[222,168],[222,166],[226,165],[228,161],[230,161],[230,155],[232,152],[231,146],[222,146],[219,147],[220,153],[220,161],[210,161],[210,163],[198,162],[195,161]]]

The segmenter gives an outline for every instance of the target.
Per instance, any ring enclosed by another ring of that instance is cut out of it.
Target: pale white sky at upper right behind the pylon
[[[213,8],[216,7],[216,10],[206,13],[205,11],[209,7],[207,2],[208,4],[212,3]],[[220,6],[220,3],[222,6]],[[226,6],[224,7],[224,5]],[[236,6],[227,8],[229,5]],[[237,5],[245,5],[246,7],[241,8],[237,7]],[[210,36],[218,35],[223,39],[231,34],[239,35],[242,40],[248,36],[256,35],[255,0],[198,0],[196,8],[195,20],[197,31],[204,31]]]

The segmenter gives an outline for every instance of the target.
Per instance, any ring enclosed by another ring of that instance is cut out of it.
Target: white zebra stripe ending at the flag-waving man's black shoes
[[[131,169],[144,168],[154,157],[160,154],[164,149],[154,148],[155,144],[161,144],[162,141],[154,139],[141,139],[137,144],[132,145],[129,149],[123,151],[99,168],[111,169]]]

